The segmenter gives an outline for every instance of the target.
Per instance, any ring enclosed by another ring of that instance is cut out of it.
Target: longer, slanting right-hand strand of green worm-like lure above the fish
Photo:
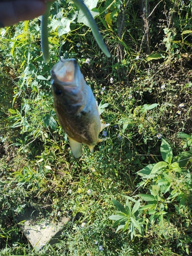
[[[82,10],[82,12],[84,13],[84,15],[86,16],[86,18],[89,21],[89,26],[92,30],[93,36],[95,38],[95,40],[97,41],[99,47],[101,48],[101,50],[105,53],[105,55],[109,58],[111,56],[110,52],[108,51],[105,42],[103,41],[98,26],[95,23],[94,18],[92,17],[89,9],[86,7],[86,5],[83,3],[82,0],[73,0],[74,4],[80,9]]]

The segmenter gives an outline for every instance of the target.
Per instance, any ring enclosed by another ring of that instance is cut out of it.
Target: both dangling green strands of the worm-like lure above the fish
[[[51,5],[55,2],[56,0],[53,0],[51,2],[46,2],[47,5],[47,9],[46,12],[42,15],[41,18],[41,49],[42,49],[42,53],[43,53],[43,59],[46,63],[49,62],[50,60],[50,53],[49,53],[49,41],[48,41],[48,30],[47,30],[47,25],[48,25],[48,18],[50,16],[50,8]],[[103,41],[98,26],[95,23],[94,18],[92,17],[89,9],[86,7],[86,5],[84,4],[84,2],[82,0],[73,0],[74,4],[80,9],[82,10],[82,12],[84,13],[84,15],[86,16],[86,18],[88,19],[90,28],[92,30],[93,36],[95,38],[95,40],[97,41],[99,47],[101,48],[101,50],[105,53],[105,55],[107,57],[110,57],[111,54],[108,51],[105,42]]]

